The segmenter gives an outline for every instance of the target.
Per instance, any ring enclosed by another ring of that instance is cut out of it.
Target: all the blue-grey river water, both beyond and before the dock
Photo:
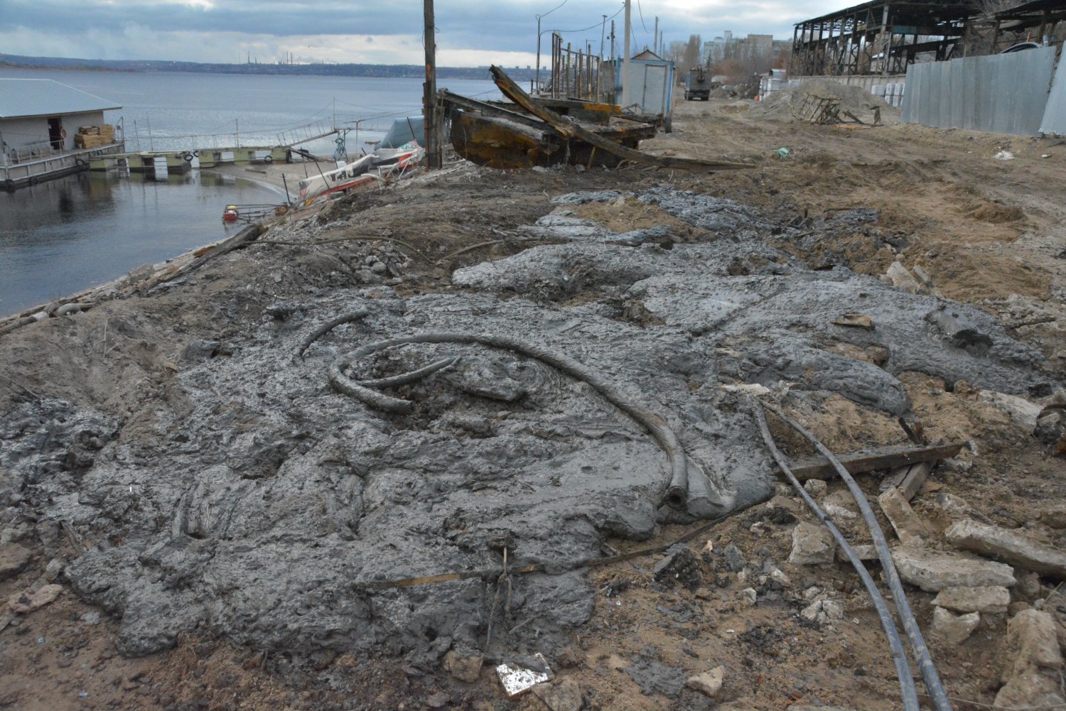
[[[10,68],[0,68],[0,77],[53,79],[122,104],[106,120],[123,125],[127,150],[271,146],[336,122],[352,129],[345,148],[353,155],[381,139],[394,118],[418,115],[422,99],[418,79]],[[488,80],[441,85],[499,97]],[[332,155],[334,141],[302,145]],[[220,240],[227,233],[221,220],[227,204],[282,199],[259,183],[206,171],[157,178],[81,173],[0,192],[0,316]]]

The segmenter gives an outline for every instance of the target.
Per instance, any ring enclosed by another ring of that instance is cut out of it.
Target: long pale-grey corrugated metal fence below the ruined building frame
[[[1036,135],[1045,110],[1050,110],[1054,67],[1054,47],[912,64],[907,69],[903,122]]]

